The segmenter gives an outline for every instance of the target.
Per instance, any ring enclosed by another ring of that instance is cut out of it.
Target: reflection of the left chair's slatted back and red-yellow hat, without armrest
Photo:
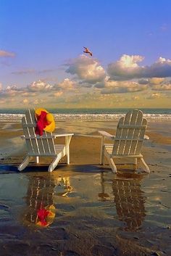
[[[55,217],[53,202],[55,183],[47,176],[30,176],[25,201],[27,210],[25,221],[30,226],[49,226]]]

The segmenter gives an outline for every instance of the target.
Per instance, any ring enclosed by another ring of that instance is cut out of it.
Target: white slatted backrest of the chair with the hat
[[[35,133],[36,116],[35,110],[27,110],[22,117],[22,128],[25,135],[25,142],[30,156],[51,156],[56,154],[54,138],[52,133],[43,132],[43,136]]]

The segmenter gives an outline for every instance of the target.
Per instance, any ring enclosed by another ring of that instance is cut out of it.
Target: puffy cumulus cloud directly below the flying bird
[[[72,62],[66,65],[68,66],[67,73],[76,75],[79,80],[85,83],[99,83],[106,77],[105,70],[99,62],[85,55],[80,55],[80,57],[73,59]]]

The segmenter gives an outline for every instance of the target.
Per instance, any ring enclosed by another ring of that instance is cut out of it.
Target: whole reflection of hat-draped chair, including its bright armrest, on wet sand
[[[36,226],[49,226],[53,221],[57,209],[55,196],[67,197],[72,192],[69,177],[59,176],[30,176],[25,201],[27,210],[25,222]]]

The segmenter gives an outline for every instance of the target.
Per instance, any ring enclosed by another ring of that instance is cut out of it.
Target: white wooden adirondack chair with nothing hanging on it
[[[106,131],[99,131],[101,134],[101,160],[104,163],[104,155],[107,157],[113,173],[117,173],[117,167],[114,159],[129,157],[133,159],[133,164],[139,165],[147,173],[150,172],[148,165],[143,160],[141,147],[143,139],[149,139],[145,136],[147,120],[143,118],[141,110],[133,110],[128,112],[125,117],[121,117],[117,125],[116,136],[112,136]],[[112,144],[105,144],[105,139],[112,140]]]

